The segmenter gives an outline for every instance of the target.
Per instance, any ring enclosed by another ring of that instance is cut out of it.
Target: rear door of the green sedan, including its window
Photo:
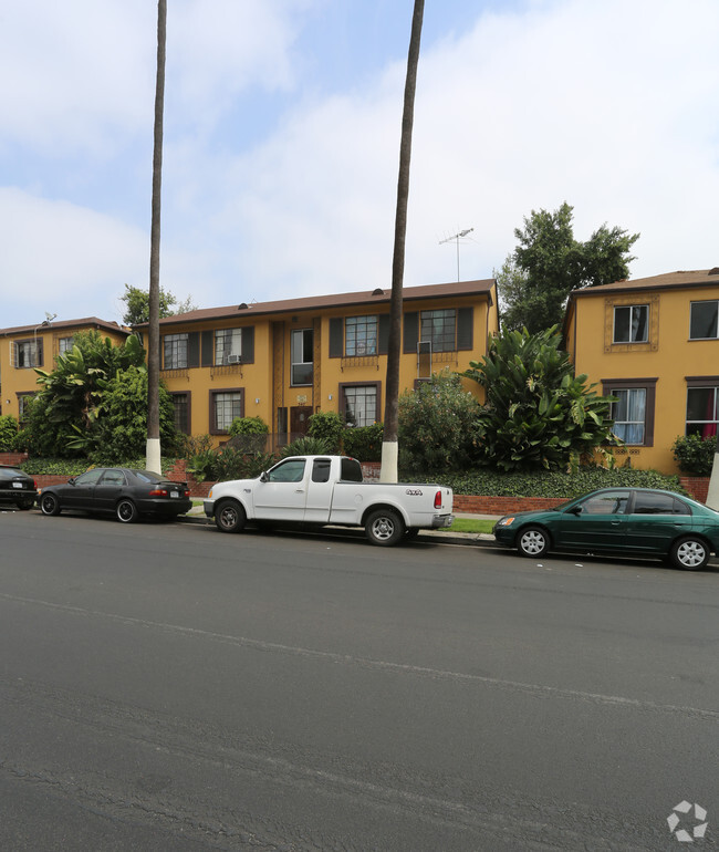
[[[627,550],[667,553],[681,532],[691,532],[691,509],[667,491],[635,491],[626,522]]]

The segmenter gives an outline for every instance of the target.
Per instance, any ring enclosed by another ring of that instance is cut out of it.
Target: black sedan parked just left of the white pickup
[[[132,523],[140,515],[174,518],[192,507],[186,482],[170,482],[149,470],[95,467],[66,485],[42,488],[38,505],[43,515],[64,509],[114,515]]]

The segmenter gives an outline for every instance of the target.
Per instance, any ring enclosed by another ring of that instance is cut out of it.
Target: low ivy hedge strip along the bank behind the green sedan
[[[400,471],[400,478],[405,481],[407,475],[410,475],[410,471]],[[451,488],[455,493],[484,497],[559,497],[570,500],[597,488],[658,488],[663,491],[686,493],[678,476],[627,467],[613,470],[581,467],[571,476],[559,470],[514,474],[502,474],[487,468],[466,474],[439,470],[426,474],[424,481],[438,482]]]

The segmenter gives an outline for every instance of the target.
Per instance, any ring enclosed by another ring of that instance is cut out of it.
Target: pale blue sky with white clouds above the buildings
[[[160,281],[199,308],[386,288],[413,0],[168,0]],[[0,0],[0,328],[147,289],[157,3]],[[719,264],[716,0],[426,0],[405,284],[531,210]]]

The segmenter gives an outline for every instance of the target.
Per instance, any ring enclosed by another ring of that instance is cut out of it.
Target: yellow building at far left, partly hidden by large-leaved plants
[[[0,414],[11,414],[22,423],[25,403],[38,392],[34,367],[51,372],[56,356],[72,349],[74,335],[93,329],[114,345],[131,334],[116,322],[96,316],[0,329]]]

